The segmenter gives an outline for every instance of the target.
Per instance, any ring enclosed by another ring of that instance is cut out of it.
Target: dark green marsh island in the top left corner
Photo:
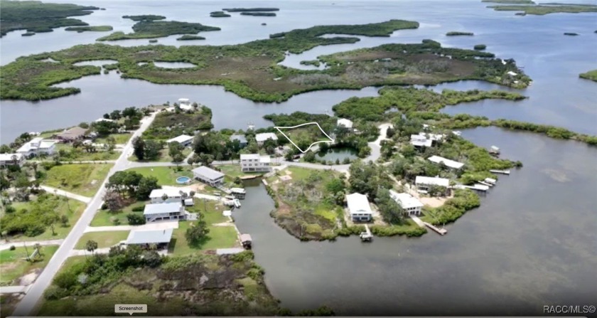
[[[86,16],[99,10],[97,6],[9,0],[0,0],[0,7],[0,36],[15,30],[26,30],[27,36],[32,36],[30,33],[51,32],[63,26],[88,26],[77,18],[68,17]]]

